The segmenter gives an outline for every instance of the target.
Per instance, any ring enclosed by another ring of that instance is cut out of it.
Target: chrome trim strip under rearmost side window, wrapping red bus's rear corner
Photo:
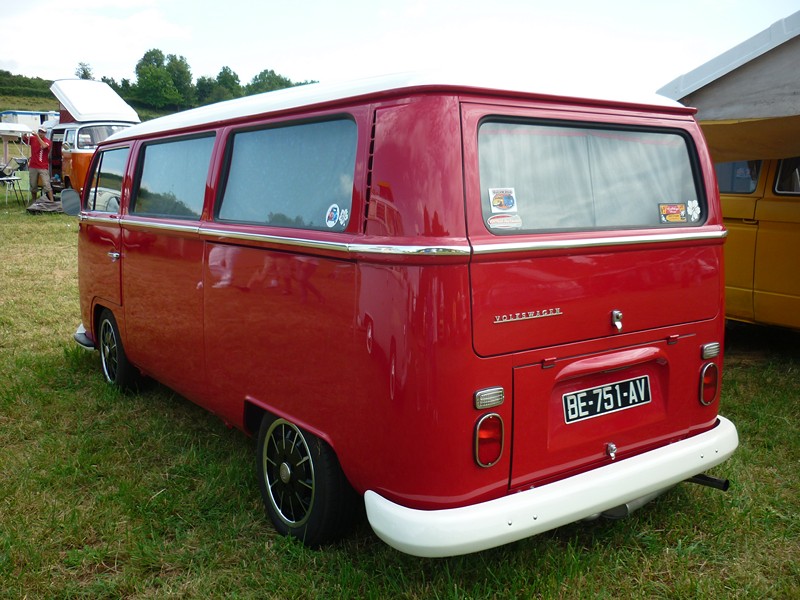
[[[411,245],[375,245],[351,244],[348,242],[324,242],[304,238],[294,238],[264,233],[245,233],[222,229],[201,229],[200,234],[206,237],[222,237],[234,240],[269,242],[286,246],[328,250],[345,254],[381,254],[389,256],[464,256],[471,254],[468,245],[463,246],[411,246]]]

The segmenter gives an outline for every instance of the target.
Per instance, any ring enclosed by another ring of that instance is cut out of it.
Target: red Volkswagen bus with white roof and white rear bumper
[[[266,512],[310,545],[362,503],[447,556],[724,488],[692,115],[404,76],[130,127],[84,189],[76,339],[256,436]]]

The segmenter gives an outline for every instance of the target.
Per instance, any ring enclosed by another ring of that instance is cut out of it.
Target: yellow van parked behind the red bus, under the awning
[[[716,165],[729,319],[800,329],[800,156]]]

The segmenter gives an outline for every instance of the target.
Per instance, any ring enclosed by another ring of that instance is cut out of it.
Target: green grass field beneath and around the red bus
[[[169,390],[122,394],[77,348],[77,221],[0,204],[0,598],[797,598],[800,336],[729,330],[741,445],[621,521],[474,555],[361,524],[308,550],[263,515],[254,442]]]

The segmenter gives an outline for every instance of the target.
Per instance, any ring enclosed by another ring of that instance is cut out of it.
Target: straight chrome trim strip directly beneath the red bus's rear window
[[[603,238],[580,238],[570,240],[536,240],[532,242],[498,242],[476,244],[472,247],[475,254],[496,254],[500,252],[526,252],[536,250],[564,250],[568,248],[595,248],[617,246],[620,244],[654,244],[668,242],[685,242],[697,240],[724,239],[728,235],[722,231],[697,231],[681,233],[652,233],[648,235],[618,235]]]

